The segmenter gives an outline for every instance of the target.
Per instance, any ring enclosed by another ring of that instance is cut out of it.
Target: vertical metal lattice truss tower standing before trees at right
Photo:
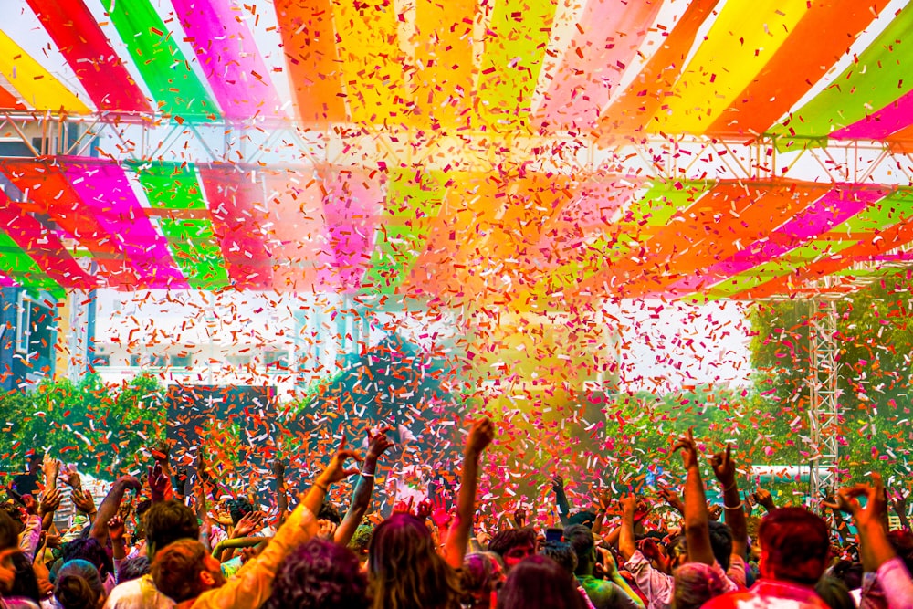
[[[809,370],[809,495],[813,500],[831,494],[837,485],[840,458],[840,401],[837,389],[839,362],[837,309],[834,299],[810,299]]]

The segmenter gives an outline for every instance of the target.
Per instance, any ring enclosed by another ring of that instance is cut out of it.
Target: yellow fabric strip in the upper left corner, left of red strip
[[[91,114],[92,110],[51,76],[35,59],[0,31],[0,73],[26,104],[35,110],[63,110],[70,114]]]

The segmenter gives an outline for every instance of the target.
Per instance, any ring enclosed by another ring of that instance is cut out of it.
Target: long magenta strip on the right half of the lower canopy
[[[719,283],[750,268],[770,262],[845,222],[885,194],[862,184],[837,184],[803,212],[773,231],[767,239],[755,241],[750,247],[718,262],[701,275],[677,281],[666,290],[666,293],[689,294],[701,286]]]

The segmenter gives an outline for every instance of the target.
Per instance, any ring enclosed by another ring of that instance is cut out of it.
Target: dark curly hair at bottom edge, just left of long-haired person
[[[368,580],[352,551],[311,539],[282,562],[263,609],[367,609]]]

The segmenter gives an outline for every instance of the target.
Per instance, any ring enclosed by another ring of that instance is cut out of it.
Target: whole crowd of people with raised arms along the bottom
[[[477,480],[495,432],[488,419],[469,430],[452,506],[434,497],[385,518],[369,515],[392,446],[383,429],[363,455],[343,440],[298,495],[277,461],[268,499],[226,497],[200,456],[190,475],[174,472],[162,446],[142,481],[118,478],[96,508],[74,467],[36,452],[0,509],[0,609],[913,608],[913,533],[903,506],[889,530],[876,474],[810,509],[776,507],[740,488],[728,447],[705,467],[713,505],[688,432],[673,446],[680,493],[572,510],[556,477],[551,527],[518,510],[487,538]],[[331,488],[356,476],[343,514]],[[74,516],[61,524],[65,503]],[[677,517],[658,518],[660,506]]]

